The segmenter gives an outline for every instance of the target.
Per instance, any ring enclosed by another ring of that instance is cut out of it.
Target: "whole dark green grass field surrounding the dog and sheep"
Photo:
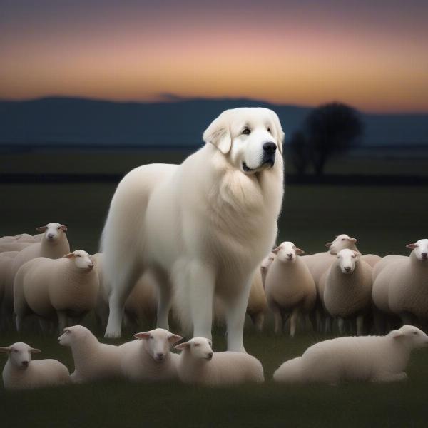
[[[39,154],[37,155],[39,156]],[[44,172],[113,171],[123,173],[147,161],[178,161],[182,153],[138,153],[133,157],[80,154],[60,163],[46,156]],[[4,172],[38,170],[36,158],[1,158]],[[51,163],[49,163],[49,159]],[[40,158],[39,158],[40,160]],[[31,166],[33,165],[33,166]],[[384,164],[380,169],[385,168]],[[24,169],[22,169],[24,168]],[[51,169],[49,169],[51,168]],[[364,165],[360,164],[360,169]],[[0,235],[31,232],[51,221],[68,225],[73,249],[96,252],[108,203],[116,185],[0,185]],[[405,245],[426,238],[427,187],[289,185],[280,218],[280,240],[292,240],[307,253],[324,250],[335,235],[358,238],[364,253],[407,254]],[[87,320],[92,325],[91,320]],[[143,329],[143,327],[141,327]],[[246,325],[247,350],[260,358],[267,382],[230,389],[184,387],[180,384],[134,385],[123,382],[88,384],[11,394],[0,390],[3,427],[427,427],[428,350],[416,352],[409,381],[402,384],[349,384],[341,387],[282,387],[271,382],[280,363],[299,355],[326,337],[310,334],[295,340],[266,332],[257,335]],[[100,334],[101,332],[98,332]],[[128,332],[123,340],[128,340]],[[1,332],[0,345],[29,342],[72,370],[71,352],[56,337]],[[214,335],[223,350],[222,331]],[[0,366],[6,358],[0,355]]]

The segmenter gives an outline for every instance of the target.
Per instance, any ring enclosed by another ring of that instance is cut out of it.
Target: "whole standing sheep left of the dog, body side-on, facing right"
[[[14,281],[16,330],[21,330],[29,313],[49,320],[56,312],[62,332],[68,316],[80,319],[95,307],[97,295],[98,274],[86,251],[75,250],[56,260],[30,260],[21,266]]]

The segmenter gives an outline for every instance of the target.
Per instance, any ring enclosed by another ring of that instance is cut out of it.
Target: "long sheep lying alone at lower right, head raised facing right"
[[[412,325],[387,336],[337,337],[307,348],[301,357],[284,362],[273,374],[276,382],[395,382],[405,372],[412,350],[427,347],[428,336]]]

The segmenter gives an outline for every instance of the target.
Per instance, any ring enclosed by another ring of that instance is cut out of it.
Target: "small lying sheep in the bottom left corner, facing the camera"
[[[16,342],[9,347],[0,347],[0,352],[9,355],[3,369],[6,389],[21,390],[53,387],[68,384],[70,373],[57,360],[31,360],[31,354],[41,352],[26,343]]]

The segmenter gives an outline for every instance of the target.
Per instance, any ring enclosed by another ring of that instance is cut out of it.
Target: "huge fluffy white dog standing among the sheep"
[[[121,180],[101,239],[106,337],[120,337],[126,298],[149,271],[159,288],[158,327],[169,328],[174,301],[183,328],[210,339],[218,297],[228,350],[245,351],[251,280],[277,235],[283,138],[275,112],[227,110],[203,133],[205,146],[180,165],[143,165]]]

